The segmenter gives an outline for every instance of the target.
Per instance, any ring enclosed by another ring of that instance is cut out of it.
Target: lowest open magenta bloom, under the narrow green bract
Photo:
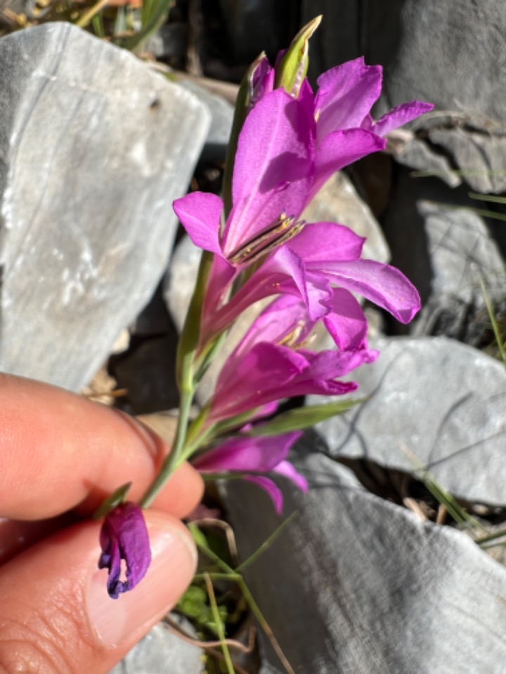
[[[286,461],[290,447],[301,436],[301,432],[284,435],[252,437],[242,435],[231,437],[215,449],[207,451],[192,461],[200,473],[277,473],[284,475],[301,489],[308,490],[305,477]],[[244,480],[254,482],[264,489],[274,503],[276,513],[283,511],[283,494],[272,480],[264,475],[244,475]]]

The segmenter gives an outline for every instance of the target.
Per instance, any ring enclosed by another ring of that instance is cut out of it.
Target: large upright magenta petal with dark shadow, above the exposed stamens
[[[278,218],[298,216],[313,174],[312,112],[283,89],[264,95],[239,136],[233,174],[233,209],[223,251],[233,256]]]

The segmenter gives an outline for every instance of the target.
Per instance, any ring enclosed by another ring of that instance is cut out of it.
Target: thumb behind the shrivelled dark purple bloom
[[[152,562],[111,599],[98,571],[98,522],[59,531],[0,567],[0,671],[107,674],[177,602],[197,555],[186,527],[145,511]]]

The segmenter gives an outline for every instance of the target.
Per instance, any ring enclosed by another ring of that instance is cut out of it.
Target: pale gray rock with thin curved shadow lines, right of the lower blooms
[[[455,496],[506,505],[504,366],[443,337],[380,339],[372,347],[377,361],[350,376],[370,399],[317,426],[332,456],[413,473],[414,454]]]

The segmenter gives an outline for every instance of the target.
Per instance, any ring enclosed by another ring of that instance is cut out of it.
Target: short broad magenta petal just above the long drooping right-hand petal
[[[304,263],[322,260],[358,260],[365,239],[337,223],[309,223],[287,247]]]

